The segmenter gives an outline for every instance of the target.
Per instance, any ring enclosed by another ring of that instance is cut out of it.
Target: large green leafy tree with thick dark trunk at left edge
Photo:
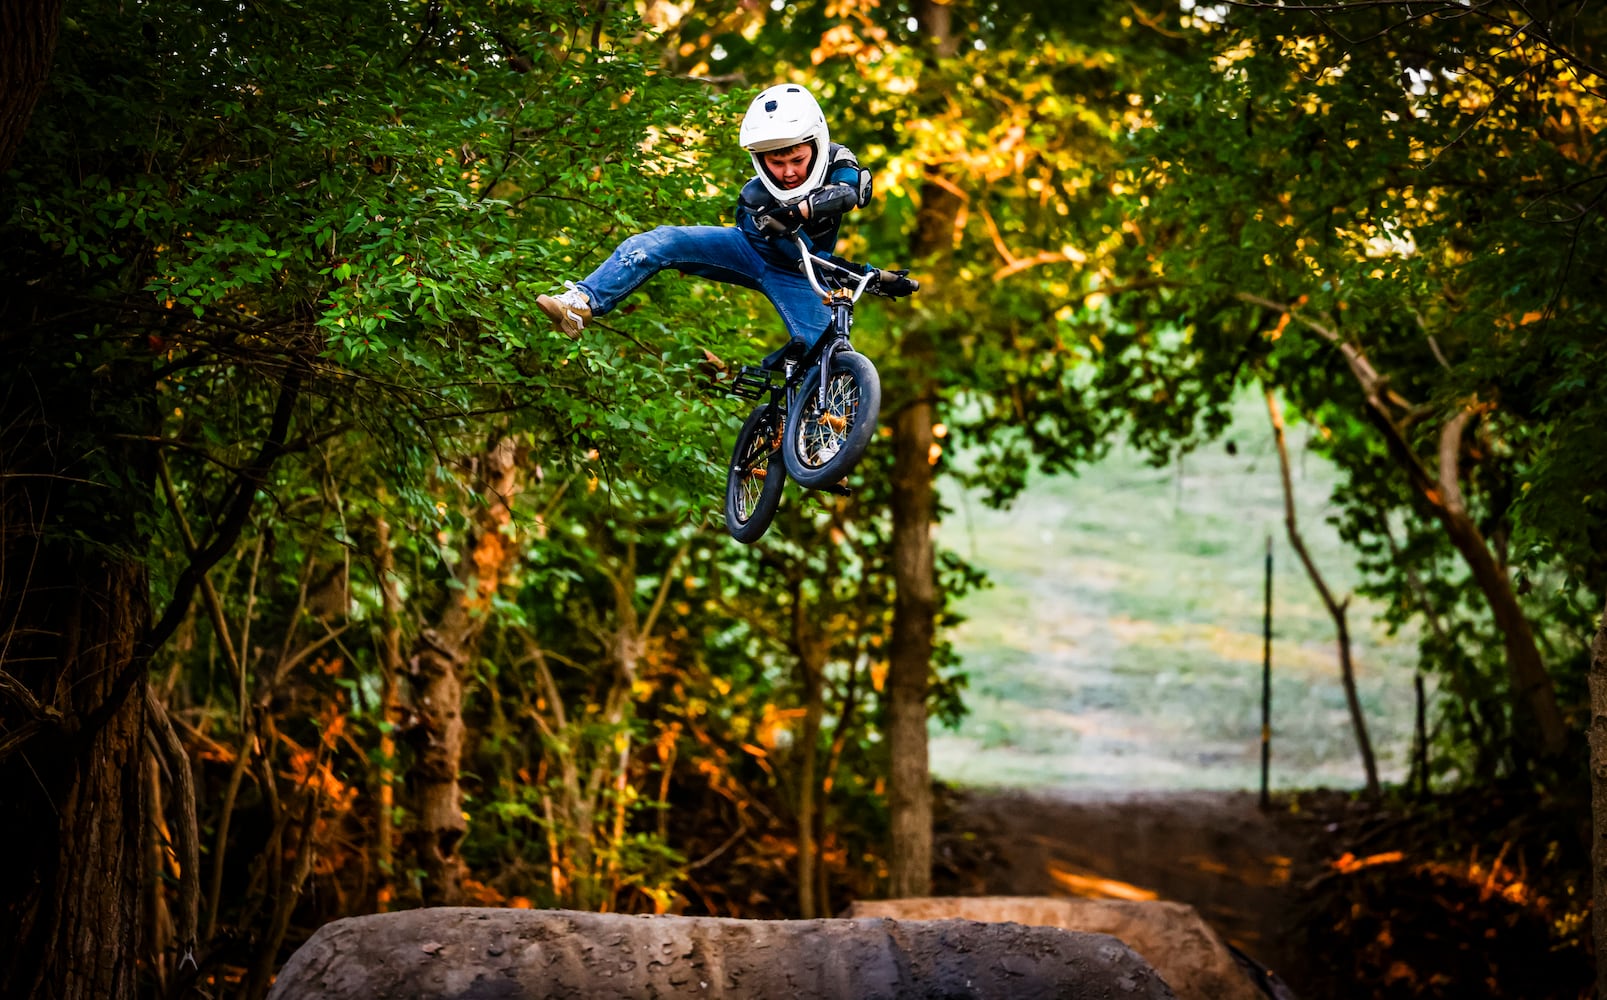
[[[6,11],[35,69],[50,10]],[[595,418],[529,281],[575,217],[657,196],[649,125],[717,109],[590,51],[604,27],[633,31],[567,3],[74,10],[3,193],[6,994],[133,994],[146,672],[262,498],[346,436],[411,441],[389,457],[418,484],[423,428],[543,405],[569,450]]]

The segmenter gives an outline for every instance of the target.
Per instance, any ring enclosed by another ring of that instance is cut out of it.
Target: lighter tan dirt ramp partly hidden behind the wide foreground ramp
[[[979,895],[857,902],[847,916],[893,920],[963,918],[1014,921],[1093,934],[1110,934],[1143,955],[1180,1000],[1265,1000],[1194,907],[1122,899],[1049,899]]]

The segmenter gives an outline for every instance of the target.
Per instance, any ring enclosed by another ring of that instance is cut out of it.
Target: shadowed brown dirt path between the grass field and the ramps
[[[1253,793],[964,791],[938,828],[940,894],[1184,902],[1295,990],[1306,977],[1290,934],[1305,842]]]

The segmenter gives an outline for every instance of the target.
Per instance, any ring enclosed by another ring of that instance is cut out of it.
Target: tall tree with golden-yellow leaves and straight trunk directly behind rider
[[[855,220],[850,252],[906,260],[924,281],[914,315],[874,310],[858,326],[882,371],[895,453],[890,891],[921,894],[943,606],[934,484],[951,471],[940,457],[953,447],[938,434],[988,449],[979,466],[1000,502],[1025,484],[1033,458],[1069,468],[1101,447],[1109,421],[1075,387],[1102,318],[1082,302],[1104,294],[1127,235],[1098,211],[1096,182],[1117,162],[1144,53],[1178,40],[1125,8],[863,0],[778,16],[717,11],[678,26],[688,55],[677,66],[763,66],[812,80],[832,137],[877,172],[876,214]]]

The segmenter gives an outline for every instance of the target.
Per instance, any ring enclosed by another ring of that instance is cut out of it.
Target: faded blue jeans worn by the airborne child
[[[812,347],[831,323],[831,310],[808,278],[765,260],[752,240],[734,227],[660,225],[638,233],[614,248],[579,285],[591,302],[591,314],[604,315],[667,267],[765,293],[787,333]]]

